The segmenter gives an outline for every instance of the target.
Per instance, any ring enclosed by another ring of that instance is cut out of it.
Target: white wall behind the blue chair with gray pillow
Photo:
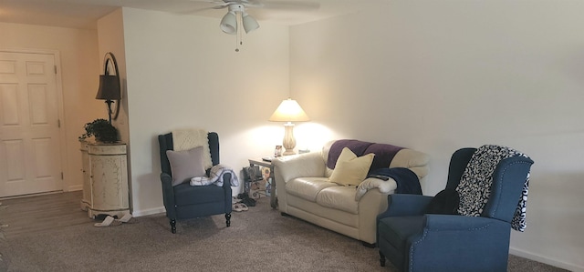
[[[289,92],[288,28],[260,24],[236,53],[218,19],[123,8],[135,216],[163,211],[158,135],[215,131],[235,171],[281,143],[267,118]]]

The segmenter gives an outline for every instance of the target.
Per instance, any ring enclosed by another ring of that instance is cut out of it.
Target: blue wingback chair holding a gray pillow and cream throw
[[[219,164],[219,136],[209,132],[209,148],[213,165]],[[191,186],[183,183],[172,186],[171,164],[166,150],[173,150],[172,133],[158,136],[161,154],[162,196],[166,217],[170,219],[172,233],[176,233],[176,220],[194,217],[208,217],[225,214],[227,227],[231,225],[231,184],[223,186]],[[207,175],[209,174],[207,169]],[[224,180],[231,180],[231,174],[225,173]]]

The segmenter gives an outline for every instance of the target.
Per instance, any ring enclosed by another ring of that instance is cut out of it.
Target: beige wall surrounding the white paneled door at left
[[[61,131],[66,138],[61,147],[67,157],[63,166],[65,191],[82,186],[78,136],[85,132],[83,126],[107,113],[103,102],[95,100],[99,85],[97,41],[95,30],[0,23],[1,48],[59,52],[65,118]]]

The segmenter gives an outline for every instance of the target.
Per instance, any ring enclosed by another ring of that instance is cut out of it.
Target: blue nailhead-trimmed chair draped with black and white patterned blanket
[[[444,191],[458,186],[475,150],[454,152]],[[401,271],[506,271],[511,221],[532,164],[525,156],[499,161],[480,217],[426,214],[433,196],[389,195],[377,221],[381,267],[387,257]]]

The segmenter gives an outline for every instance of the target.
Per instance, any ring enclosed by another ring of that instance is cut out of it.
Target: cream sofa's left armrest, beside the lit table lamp
[[[325,176],[325,161],[318,152],[281,156],[272,160],[274,171],[284,182],[299,176]]]

